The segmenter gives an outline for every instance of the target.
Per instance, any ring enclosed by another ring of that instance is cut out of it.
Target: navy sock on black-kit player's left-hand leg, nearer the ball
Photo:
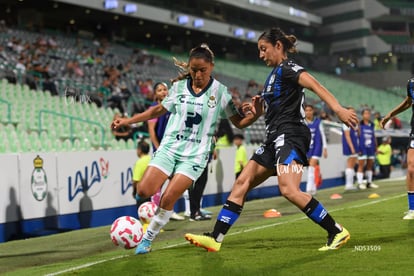
[[[236,220],[239,218],[243,206],[238,205],[230,200],[227,200],[224,203],[223,208],[217,216],[216,224],[214,225],[214,230],[212,236],[218,242],[222,242],[224,235],[227,234],[230,227]]]

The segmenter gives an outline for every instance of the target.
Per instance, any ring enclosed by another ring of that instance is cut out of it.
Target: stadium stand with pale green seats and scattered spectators
[[[116,85],[130,91],[125,110],[121,111],[133,114],[148,104],[148,99],[136,92],[137,80],[167,81],[177,74],[172,56],[186,58],[168,51],[142,50],[140,45],[109,44],[18,29],[1,33],[0,47],[0,77],[3,78],[0,106],[6,114],[0,125],[5,130],[1,132],[5,142],[0,152],[133,148],[130,141],[114,139],[108,129],[114,114],[122,108],[111,105],[112,93],[104,89],[105,80],[111,78],[108,71],[116,71],[119,79]],[[21,53],[26,50],[34,53],[22,70],[18,64]],[[37,64],[47,66],[47,74],[36,71]],[[268,71],[262,64],[223,59],[218,59],[215,65],[216,77],[229,87],[237,87],[242,95],[249,80],[262,83]],[[324,73],[312,73],[341,103],[357,109],[369,103],[375,111],[384,113],[401,101],[401,97],[386,91]],[[306,97],[318,106],[316,95],[306,93]],[[408,121],[408,116],[402,114],[401,119]],[[264,138],[263,118],[247,128],[245,134],[247,142],[260,143]]]

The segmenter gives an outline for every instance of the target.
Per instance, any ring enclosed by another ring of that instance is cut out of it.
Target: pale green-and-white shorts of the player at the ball
[[[208,155],[202,162],[195,162],[191,157],[175,157],[165,151],[156,151],[149,163],[149,166],[156,167],[168,176],[182,174],[196,181],[207,166]]]

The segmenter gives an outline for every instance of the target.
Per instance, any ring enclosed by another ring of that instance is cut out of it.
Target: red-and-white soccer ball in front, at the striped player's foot
[[[112,223],[110,235],[113,244],[131,249],[136,247],[142,239],[142,225],[134,217],[119,217]]]

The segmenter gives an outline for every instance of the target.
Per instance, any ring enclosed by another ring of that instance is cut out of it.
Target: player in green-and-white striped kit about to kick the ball
[[[228,117],[238,128],[252,124],[263,112],[259,96],[235,108],[227,87],[211,77],[214,54],[206,44],[190,51],[188,64],[176,61],[184,72],[173,80],[169,95],[161,104],[132,118],[115,120],[113,128],[147,121],[171,112],[161,144],[137,188],[142,198],[153,195],[172,175],[156,215],[151,220],[135,253],[151,251],[151,243],[169,221],[174,203],[199,178],[207,166],[212,139],[220,118]]]

